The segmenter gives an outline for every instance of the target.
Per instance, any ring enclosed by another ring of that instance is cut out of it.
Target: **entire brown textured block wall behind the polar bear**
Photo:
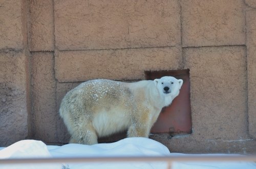
[[[256,152],[254,1],[12,0],[2,8],[0,146],[67,143],[59,104],[83,81],[189,68],[193,132],[151,138],[172,152]]]

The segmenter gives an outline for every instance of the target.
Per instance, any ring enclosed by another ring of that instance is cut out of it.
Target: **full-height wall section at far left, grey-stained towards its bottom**
[[[30,135],[28,4],[0,2],[0,146]]]

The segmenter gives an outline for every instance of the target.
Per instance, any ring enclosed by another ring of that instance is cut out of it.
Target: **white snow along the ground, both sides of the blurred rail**
[[[191,154],[189,154],[191,155]],[[201,154],[202,155],[202,154]],[[211,156],[217,154],[204,154]],[[218,154],[219,156],[227,154]],[[1,158],[25,158],[25,157],[120,157],[120,156],[186,156],[186,154],[170,153],[160,142],[152,139],[134,137],[125,138],[114,143],[100,143],[92,146],[82,144],[66,144],[65,146],[46,146],[41,141],[23,140],[1,150]],[[197,156],[197,155],[194,155]],[[234,155],[233,155],[234,156]],[[237,155],[235,155],[237,156]],[[166,162],[126,162],[126,163],[69,163],[65,165],[38,165],[27,164],[11,168],[167,168]],[[10,168],[0,165],[0,168]],[[255,169],[255,162],[174,162],[172,168],[179,169],[211,169],[211,168],[248,168]]]

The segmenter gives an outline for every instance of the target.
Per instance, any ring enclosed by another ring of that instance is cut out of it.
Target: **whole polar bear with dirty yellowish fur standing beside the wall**
[[[148,137],[161,109],[179,94],[183,80],[165,76],[138,82],[105,79],[83,82],[62,99],[59,113],[70,143],[96,144],[98,137],[127,130]]]

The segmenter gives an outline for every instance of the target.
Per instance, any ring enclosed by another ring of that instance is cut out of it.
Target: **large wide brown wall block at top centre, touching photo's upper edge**
[[[123,49],[180,44],[175,1],[54,1],[58,50]]]

